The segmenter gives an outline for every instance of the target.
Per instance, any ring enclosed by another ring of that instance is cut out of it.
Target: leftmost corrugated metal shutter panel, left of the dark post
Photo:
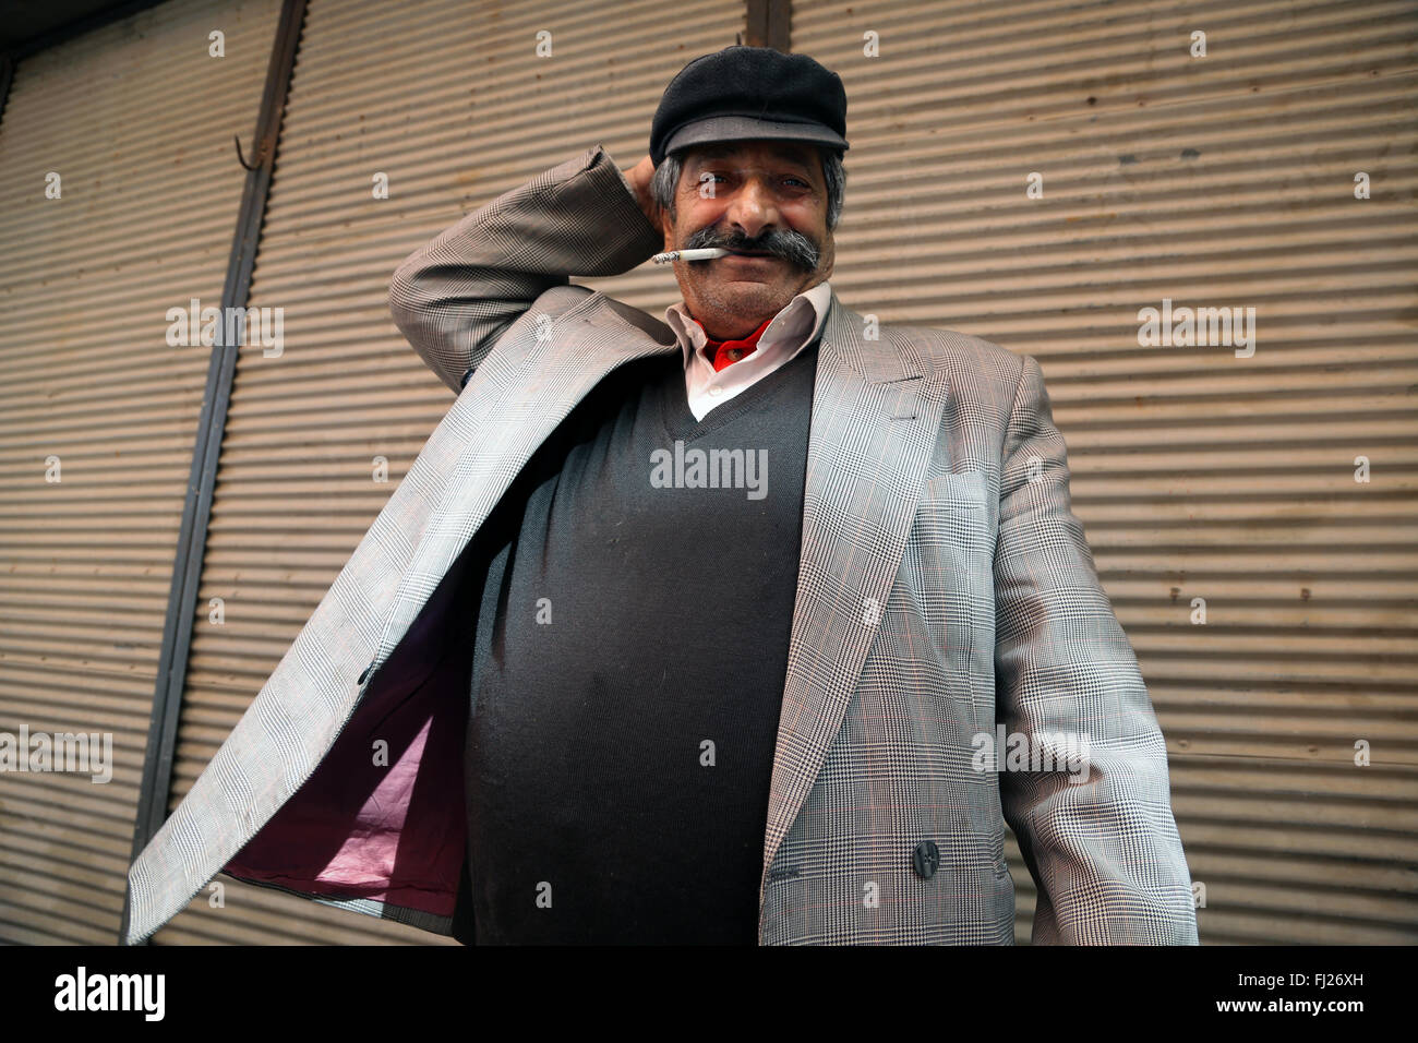
[[[112,780],[0,773],[0,941],[113,944],[187,470],[275,0],[172,3],[20,62],[0,125],[0,732],[109,732]],[[225,34],[225,57],[207,34]],[[61,197],[45,197],[45,176]],[[58,482],[45,460],[60,458]]]

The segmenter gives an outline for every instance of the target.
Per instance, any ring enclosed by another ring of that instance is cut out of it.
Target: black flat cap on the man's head
[[[669,81],[649,125],[649,158],[686,145],[770,138],[847,150],[842,78],[805,54],[725,47]]]

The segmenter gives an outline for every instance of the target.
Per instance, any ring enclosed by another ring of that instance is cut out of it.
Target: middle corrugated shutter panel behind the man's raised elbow
[[[390,319],[394,268],[462,213],[596,142],[624,165],[645,155],[665,84],[743,30],[737,0],[693,0],[675,9],[666,44],[662,11],[311,0],[251,292],[254,307],[285,309],[285,348],[242,348],[237,365],[173,806],[452,404]],[[536,57],[540,30],[552,58]],[[372,196],[380,172],[387,200]],[[373,480],[376,457],[387,482]],[[207,622],[213,597],[221,626]],[[199,897],[155,941],[440,941],[224,884],[224,910]]]

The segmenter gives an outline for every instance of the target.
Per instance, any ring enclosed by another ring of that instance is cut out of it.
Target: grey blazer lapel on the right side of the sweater
[[[905,345],[905,342],[902,342]],[[885,612],[946,403],[891,333],[832,302],[818,346],[803,546],[778,719],[763,878],[813,788]]]

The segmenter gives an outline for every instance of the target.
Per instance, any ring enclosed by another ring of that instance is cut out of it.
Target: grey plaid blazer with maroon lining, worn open
[[[457,400],[133,863],[125,941],[223,871],[462,937],[462,552],[596,383],[679,351],[569,280],[661,247],[596,146],[398,268],[394,318]],[[943,329],[871,335],[835,295],[818,352],[760,942],[1010,944],[1008,823],[1038,885],[1035,944],[1195,944],[1163,736],[1072,514],[1038,363]],[[403,782],[369,768],[362,719],[408,725]],[[1045,751],[1086,734],[1086,771],[1005,769],[1004,751],[980,771],[980,736],[1001,731]]]

